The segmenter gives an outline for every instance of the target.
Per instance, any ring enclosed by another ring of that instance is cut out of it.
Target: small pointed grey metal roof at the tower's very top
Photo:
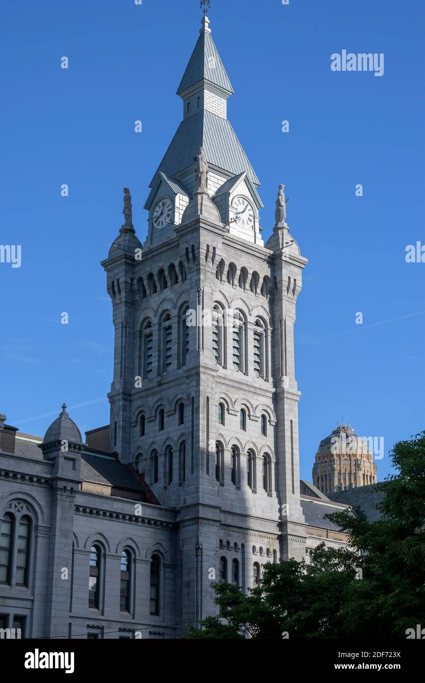
[[[214,40],[209,31],[201,31],[198,42],[195,45],[192,57],[181,79],[177,95],[192,87],[200,81],[209,81],[218,85],[229,94],[233,93],[233,87],[226,74],[226,70],[220,59]]]

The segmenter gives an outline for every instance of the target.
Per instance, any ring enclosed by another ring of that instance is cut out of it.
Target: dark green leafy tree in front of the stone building
[[[381,519],[364,514],[326,515],[349,538],[348,548],[319,545],[304,559],[267,563],[260,585],[244,595],[213,584],[220,616],[190,639],[405,638],[425,626],[425,432],[396,443],[397,475],[377,484]],[[362,578],[357,578],[362,576]]]

